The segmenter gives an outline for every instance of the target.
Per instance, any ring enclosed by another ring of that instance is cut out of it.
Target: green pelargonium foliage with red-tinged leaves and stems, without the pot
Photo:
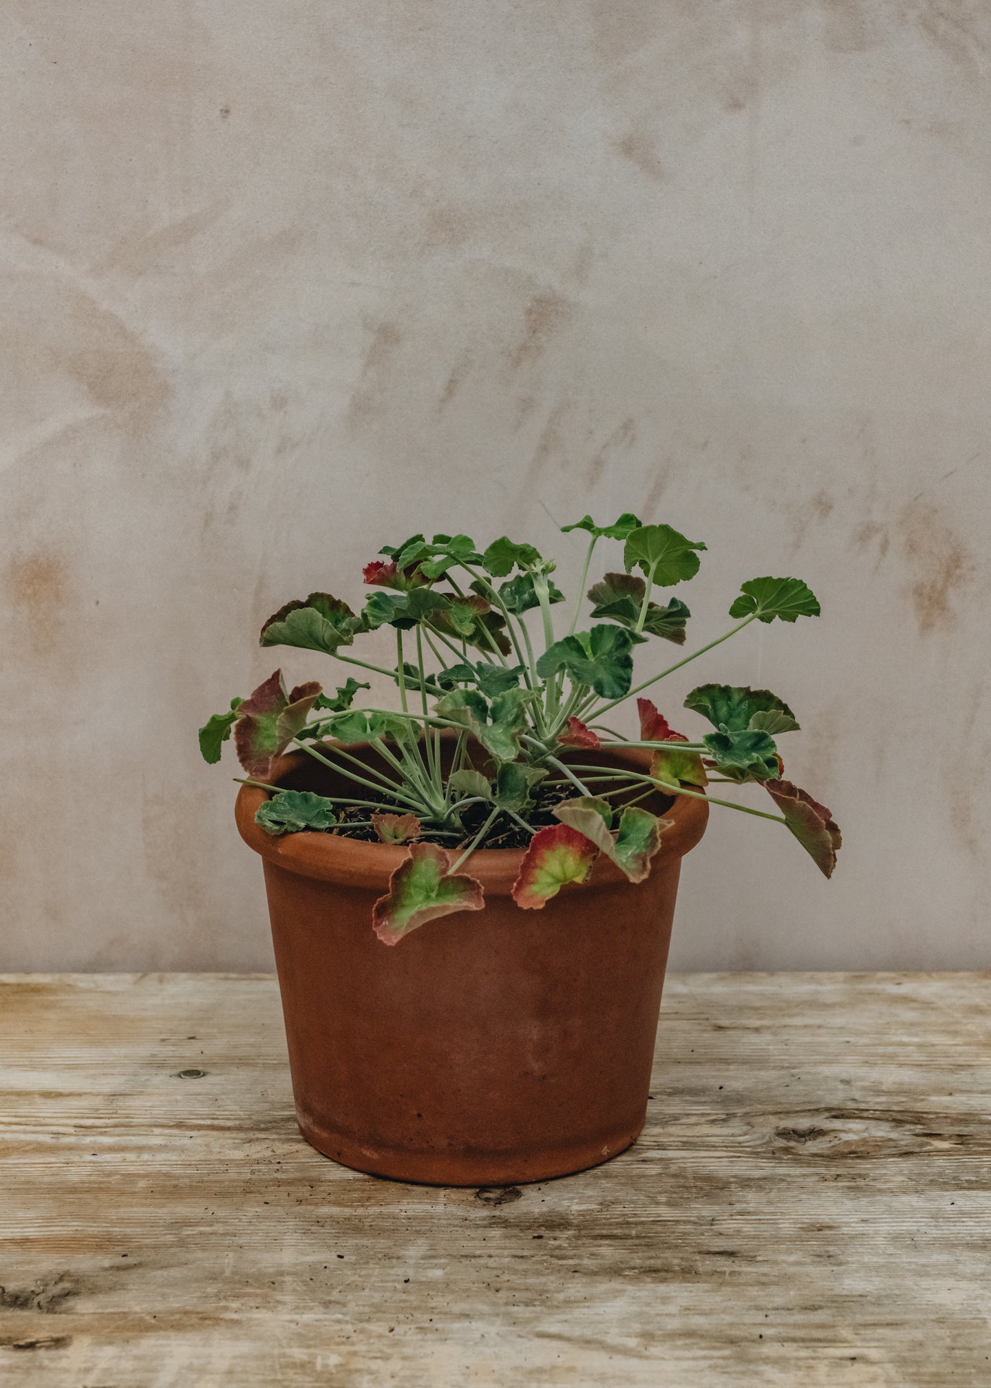
[[[729,632],[634,684],[634,651],[647,647],[650,654],[655,640],[684,644],[688,608],[677,597],[661,601],[658,591],[694,577],[705,545],[630,514],[609,526],[583,516],[562,529],[590,537],[580,589],[597,545],[623,545],[622,572],[611,570],[588,589],[591,612],[580,629],[579,597],[566,632],[555,630],[554,609],[565,595],[551,579],[554,561],[533,545],[502,536],[479,550],[466,534],[415,534],[383,545],[384,558],[365,568],[373,591],[359,612],[329,593],[311,593],[279,608],[260,638],[261,645],[321,651],[384,675],[398,688],[398,708],[355,708],[358,691],[371,686],[354,676],[333,694],[316,682],[286,691],[275,670],[200,729],[208,762],[219,761],[233,731],[243,783],[271,791],[255,815],[266,833],[307,830],[408,845],[373,909],[375,931],[386,944],[437,916],[484,906],[480,883],[464,872],[479,848],[526,848],[512,890],[523,911],[540,911],[568,883],[586,883],[600,856],[630,881],[643,881],[670,824],[641,804],[658,791],[783,824],[827,877],[836,866],[840,830],[830,812],[784,780],[776,740],[798,723],[776,694],[698,686],[684,708],[712,725],[700,737],[676,733],[644,697],[637,697],[638,738],[615,731],[609,718],[625,700],[752,622],[818,616],[808,586],[749,579],[730,607]],[[354,654],[359,637],[382,627],[394,632],[394,665]],[[290,747],[336,772],[346,793],[273,786],[273,759]],[[629,748],[650,758],[627,752],[609,763],[601,755]],[[706,790],[749,783],[768,791],[779,813]]]

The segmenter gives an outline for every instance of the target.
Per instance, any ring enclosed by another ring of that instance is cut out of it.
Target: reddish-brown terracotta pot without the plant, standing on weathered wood
[[[303,752],[282,758],[273,780],[347,794]],[[637,887],[600,858],[588,886],[520,911],[509,891],[522,851],[482,851],[465,870],[484,887],[484,911],[432,920],[389,947],[372,933],[372,904],[405,849],[273,838],[254,823],[264,798],[242,787],[237,827],[264,859],[308,1142],[376,1176],[507,1185],[595,1166],[636,1140],[679,869],[705,830],[704,801],[645,802],[675,823]]]

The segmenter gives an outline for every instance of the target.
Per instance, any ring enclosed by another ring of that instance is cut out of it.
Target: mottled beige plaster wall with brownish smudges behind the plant
[[[260,620],[421,527],[573,583],[557,526],[627,508],[708,541],[698,641],[755,573],[823,604],[659,702],[784,695],[841,866],[713,813],[675,962],[991,965],[983,0],[7,0],[0,37],[1,966],[268,967],[196,750]]]

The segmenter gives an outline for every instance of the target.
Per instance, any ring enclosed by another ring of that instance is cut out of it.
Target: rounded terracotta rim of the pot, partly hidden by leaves
[[[364,745],[359,744],[359,747]],[[355,754],[358,748],[348,747],[348,751]],[[609,759],[620,766],[644,768],[650,763],[650,754],[641,748],[623,748],[611,752]],[[308,761],[305,752],[289,752],[279,756],[272,763],[269,779],[278,786],[283,776],[307,765]],[[254,816],[258,806],[268,798],[266,791],[257,786],[242,786],[235,804],[237,831],[248,848],[253,848],[266,862],[297,876],[333,881],[341,887],[365,887],[380,892],[389,890],[389,879],[407,856],[405,845],[373,844],[318,830],[301,830],[280,837],[266,834],[255,824]],[[675,797],[670,809],[665,809],[662,813],[673,823],[662,836],[655,866],[672,859],[681,859],[695,847],[705,833],[709,806],[704,799],[679,795]],[[489,895],[508,897],[519,876],[525,852],[523,848],[479,848],[466,861],[462,870],[469,877],[475,877]],[[629,886],[629,880],[615,863],[600,855],[591,880],[583,890],[594,891],[597,887],[615,884]]]

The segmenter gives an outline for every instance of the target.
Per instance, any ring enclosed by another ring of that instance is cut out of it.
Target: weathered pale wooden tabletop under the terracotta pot
[[[0,979],[0,1384],[991,1384],[991,976],[668,983],[626,1155],[334,1166],[264,976]]]

